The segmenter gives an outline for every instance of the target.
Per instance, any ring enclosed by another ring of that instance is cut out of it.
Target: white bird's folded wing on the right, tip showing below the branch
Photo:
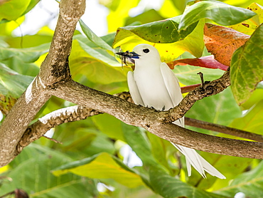
[[[166,63],[161,63],[161,74],[163,75],[163,81],[166,85],[166,89],[168,90],[171,100],[173,101],[173,106],[175,107],[183,99],[178,79]],[[184,118],[176,120],[175,124],[184,127]]]

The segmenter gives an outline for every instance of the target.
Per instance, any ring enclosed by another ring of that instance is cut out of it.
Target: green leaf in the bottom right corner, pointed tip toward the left
[[[263,197],[263,161],[253,170],[237,176],[229,187],[222,188],[217,193],[234,197],[237,192],[243,192],[246,197]]]

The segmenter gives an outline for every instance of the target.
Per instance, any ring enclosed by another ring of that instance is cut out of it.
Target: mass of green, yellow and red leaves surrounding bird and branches
[[[3,113],[10,110],[37,75],[50,45],[52,36],[47,31],[23,36],[22,46],[26,48],[17,44],[21,38],[11,36],[11,30],[16,27],[12,20],[23,21],[23,14],[37,2],[24,1],[23,6],[21,1],[15,0],[0,3],[0,10],[11,6],[19,10],[16,17],[9,16],[10,12],[0,12],[1,19],[5,19],[0,24],[0,108]],[[132,50],[138,43],[154,44],[162,61],[169,62],[172,68],[175,66],[173,71],[183,85],[200,83],[198,72],[204,74],[205,80],[219,78],[222,70],[230,66],[232,89],[198,101],[187,116],[260,134],[263,90],[262,85],[257,84],[263,78],[262,6],[253,3],[242,9],[237,7],[242,5],[230,6],[230,1],[229,4],[198,1],[188,3],[185,10],[181,2],[171,2],[164,1],[158,12],[144,11],[131,18],[128,12],[139,1],[130,4],[107,1],[104,6],[110,10],[109,31],[117,30],[116,35],[97,37],[80,21],[85,36],[76,31],[73,37],[69,60],[73,79],[110,94],[128,91],[126,78],[130,68],[122,68],[114,52],[119,46],[123,51]],[[208,19],[238,32],[205,24]],[[126,26],[134,23],[136,26]],[[37,117],[69,105],[72,104],[50,98]],[[242,110],[249,111],[242,115]],[[263,196],[263,163],[259,160],[202,153],[227,179],[210,175],[203,179],[195,171],[187,177],[185,160],[169,142],[138,127],[125,125],[111,115],[60,125],[55,128],[54,138],[63,145],[41,138],[26,147],[8,167],[0,169],[3,171],[0,196],[14,189],[23,189],[30,197],[234,197],[237,192],[247,197]],[[132,147],[141,166],[131,167],[125,162],[124,145]],[[114,190],[104,188],[99,192],[99,183]]]

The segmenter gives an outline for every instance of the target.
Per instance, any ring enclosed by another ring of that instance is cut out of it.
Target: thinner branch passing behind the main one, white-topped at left
[[[131,95],[128,92],[118,93],[115,96],[133,103]],[[26,132],[24,132],[20,142],[18,142],[16,150],[18,152],[21,152],[21,150],[23,150],[23,147],[26,147],[31,142],[38,140],[38,138],[42,137],[45,134],[45,132],[50,130],[52,127],[61,125],[63,123],[74,122],[77,120],[85,120],[87,117],[90,117],[92,115],[98,115],[100,113],[101,112],[97,110],[85,108],[79,105],[55,110],[49,113],[48,115],[45,115],[42,118],[38,119],[36,123],[33,123],[26,129]],[[199,127],[206,130],[213,130],[216,132],[222,132],[228,135],[234,135],[236,137],[244,137],[249,140],[255,140],[257,142],[263,142],[262,135],[257,135],[252,132],[237,130],[235,128],[217,125],[215,123],[208,123],[201,120],[195,120],[193,118],[185,118],[185,120],[186,125],[189,126]]]

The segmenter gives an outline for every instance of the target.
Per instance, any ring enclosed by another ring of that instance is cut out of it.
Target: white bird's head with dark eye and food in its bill
[[[122,56],[124,63],[126,63],[127,60],[135,63],[135,67],[149,65],[151,63],[161,63],[159,52],[154,46],[149,44],[139,44],[134,47],[132,52],[126,51],[117,54]]]

